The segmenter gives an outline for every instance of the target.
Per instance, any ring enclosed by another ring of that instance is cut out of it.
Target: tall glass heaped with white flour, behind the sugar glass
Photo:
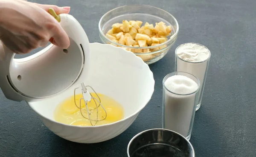
[[[188,72],[200,80],[201,88],[196,111],[201,106],[210,57],[209,49],[198,43],[184,43],[175,50],[175,71]]]

